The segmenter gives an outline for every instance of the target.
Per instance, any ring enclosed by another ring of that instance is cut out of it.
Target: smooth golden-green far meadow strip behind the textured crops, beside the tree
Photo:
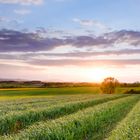
[[[116,93],[124,93],[126,90],[135,89],[140,90],[140,87],[118,87]],[[52,95],[76,95],[76,94],[99,94],[101,93],[99,87],[64,87],[64,88],[11,88],[0,89],[0,100],[8,96],[52,96]]]

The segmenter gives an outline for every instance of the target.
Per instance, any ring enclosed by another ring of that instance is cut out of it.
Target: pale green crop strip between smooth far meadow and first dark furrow
[[[89,99],[105,98],[109,95],[65,95],[65,96],[28,96],[27,98],[16,98],[0,102],[0,116],[12,111],[33,110],[42,107],[51,107],[62,103],[84,101]],[[112,95],[113,96],[113,95]],[[30,97],[30,98],[29,98]]]

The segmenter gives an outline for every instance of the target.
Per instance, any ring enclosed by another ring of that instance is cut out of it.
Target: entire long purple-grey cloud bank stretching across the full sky
[[[38,52],[49,51],[59,46],[70,45],[75,48],[116,47],[116,44],[125,43],[132,47],[140,46],[139,31],[114,31],[101,36],[65,36],[48,37],[43,30],[36,32],[21,32],[15,30],[0,30],[0,52]],[[45,34],[45,35],[44,35]],[[122,47],[123,49],[123,47]]]

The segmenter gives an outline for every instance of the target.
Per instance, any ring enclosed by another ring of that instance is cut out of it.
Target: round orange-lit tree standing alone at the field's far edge
[[[113,94],[115,93],[115,89],[118,85],[118,80],[114,77],[107,77],[101,83],[101,90],[105,94]]]

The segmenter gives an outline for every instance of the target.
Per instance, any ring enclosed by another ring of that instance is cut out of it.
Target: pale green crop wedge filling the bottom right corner
[[[140,139],[140,101],[128,116],[117,125],[107,140],[139,140]]]

